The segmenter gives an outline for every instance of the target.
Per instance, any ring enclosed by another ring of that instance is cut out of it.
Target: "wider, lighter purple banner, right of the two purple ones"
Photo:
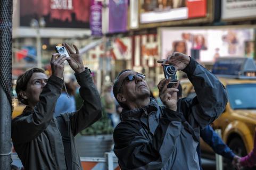
[[[127,31],[128,0],[109,0],[109,33]]]

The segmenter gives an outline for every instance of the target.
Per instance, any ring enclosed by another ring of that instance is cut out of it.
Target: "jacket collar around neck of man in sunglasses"
[[[121,121],[126,120],[139,120],[142,115],[149,115],[153,111],[158,111],[158,104],[156,103],[154,98],[150,98],[150,104],[143,108],[135,108],[135,109],[123,109],[121,113]]]

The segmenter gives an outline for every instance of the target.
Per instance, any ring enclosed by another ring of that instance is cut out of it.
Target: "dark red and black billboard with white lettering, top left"
[[[22,0],[20,26],[30,27],[32,19],[44,18],[45,27],[89,28],[89,0]]]

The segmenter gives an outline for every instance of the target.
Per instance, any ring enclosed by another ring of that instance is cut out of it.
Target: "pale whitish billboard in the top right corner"
[[[255,1],[221,1],[221,19],[222,20],[241,20],[241,19],[255,19],[256,16],[256,2]]]

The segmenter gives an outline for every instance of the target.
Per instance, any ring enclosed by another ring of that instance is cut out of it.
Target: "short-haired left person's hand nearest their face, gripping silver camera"
[[[52,60],[51,60],[51,67],[52,67],[52,75],[55,75],[56,77],[59,77],[62,79],[63,77],[63,71],[64,71],[64,61],[67,60],[66,55],[60,55],[60,54],[53,54]]]

